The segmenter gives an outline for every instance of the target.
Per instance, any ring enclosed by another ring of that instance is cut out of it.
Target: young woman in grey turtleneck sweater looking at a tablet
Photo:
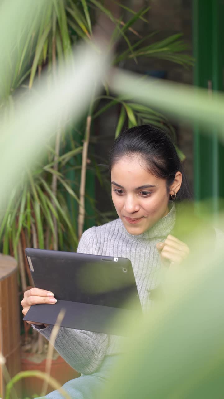
[[[181,207],[178,210],[175,203],[189,199],[187,179],[167,134],[150,125],[120,134],[110,151],[109,169],[118,219],[85,231],[77,252],[130,259],[146,311],[152,303],[151,292],[157,287],[155,272],[161,264],[181,265],[189,256],[188,243],[180,239],[188,234],[175,235],[177,215],[181,214]],[[55,301],[53,293],[32,288],[24,293],[23,314],[33,304]],[[52,326],[34,328],[50,338]],[[83,374],[65,384],[71,397],[94,397],[97,384],[108,375],[111,359],[120,353],[119,340],[106,334],[60,328],[55,348]],[[55,391],[48,397],[61,396]]]

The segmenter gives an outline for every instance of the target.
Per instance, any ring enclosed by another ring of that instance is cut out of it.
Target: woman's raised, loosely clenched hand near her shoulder
[[[168,235],[164,243],[156,245],[161,262],[164,265],[180,265],[189,255],[187,244],[183,243],[173,235]]]

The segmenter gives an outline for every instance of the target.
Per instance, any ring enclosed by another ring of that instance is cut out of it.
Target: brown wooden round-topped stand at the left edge
[[[0,352],[13,377],[20,371],[20,316],[17,263],[0,254]],[[3,371],[0,365],[0,397],[4,398]]]

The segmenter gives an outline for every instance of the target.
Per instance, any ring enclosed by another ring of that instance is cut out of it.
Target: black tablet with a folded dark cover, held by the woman
[[[26,248],[35,287],[55,294],[56,304],[37,304],[23,320],[123,335],[127,320],[142,312],[138,289],[129,259],[81,253]]]

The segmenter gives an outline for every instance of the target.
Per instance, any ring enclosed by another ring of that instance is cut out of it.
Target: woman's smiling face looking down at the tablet
[[[120,158],[111,170],[112,200],[128,233],[139,235],[169,213],[166,181],[145,170],[139,158]]]

